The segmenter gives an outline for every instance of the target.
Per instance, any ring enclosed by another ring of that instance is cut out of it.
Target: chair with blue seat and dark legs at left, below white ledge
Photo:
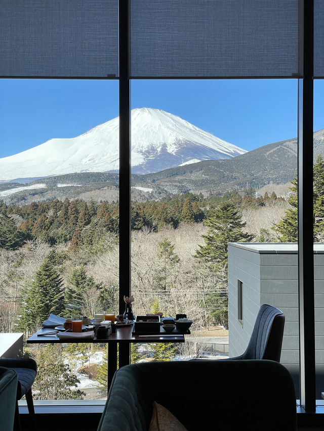
[[[32,401],[31,386],[37,374],[37,365],[33,359],[0,359],[0,367],[10,368],[16,371],[18,376],[18,385],[16,391],[16,410],[14,429],[20,429],[18,400],[26,396],[28,412],[34,415],[34,404]]]

